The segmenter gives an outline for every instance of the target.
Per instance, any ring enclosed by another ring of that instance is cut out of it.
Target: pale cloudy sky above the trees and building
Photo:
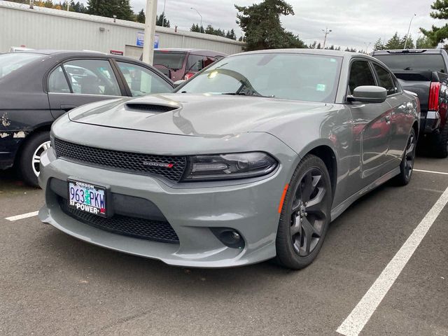
[[[340,45],[365,50],[370,43],[370,50],[378,38],[391,38],[395,31],[400,36],[407,33],[409,22],[414,17],[411,35],[419,36],[419,27],[430,29],[431,25],[442,26],[441,20],[430,18],[430,5],[434,0],[286,0],[293,6],[295,15],[282,17],[283,27],[304,40],[323,43],[322,29],[328,27],[327,45]],[[189,30],[193,23],[213,25],[221,29],[235,29],[241,36],[236,18],[239,6],[251,6],[260,0],[158,0],[158,13],[162,13],[166,2],[166,15],[171,27]],[[131,0],[132,8],[138,12],[146,10],[146,0]],[[414,16],[416,14],[416,16]]]

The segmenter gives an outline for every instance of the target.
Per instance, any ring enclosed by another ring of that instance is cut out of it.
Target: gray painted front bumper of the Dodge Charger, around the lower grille
[[[265,137],[272,137],[265,134]],[[279,202],[286,183],[297,165],[297,154],[278,139],[273,153],[279,169],[264,179],[232,181],[232,185],[195,183],[194,188],[169,186],[160,179],[56,159],[52,150],[41,157],[39,182],[45,189],[45,206],[39,218],[67,234],[115,251],[162,260],[188,267],[234,267],[273,258],[279,223]],[[62,211],[58,196],[48,186],[52,179],[77,178],[111,193],[151,201],[165,216],[179,237],[179,244],[167,244],[117,235],[77,221]],[[204,187],[203,187],[204,186]],[[210,228],[232,228],[244,239],[244,248],[225,246]]]

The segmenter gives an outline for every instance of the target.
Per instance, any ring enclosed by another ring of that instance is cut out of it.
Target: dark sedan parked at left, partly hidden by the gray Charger
[[[55,119],[83,104],[170,92],[171,80],[143,62],[97,52],[0,55],[0,169],[38,186],[41,153]]]

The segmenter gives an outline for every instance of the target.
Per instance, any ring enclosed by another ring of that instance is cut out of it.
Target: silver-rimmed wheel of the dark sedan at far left
[[[27,185],[38,188],[38,165],[41,162],[41,154],[49,147],[50,132],[33,134],[24,144],[18,159],[18,170]]]

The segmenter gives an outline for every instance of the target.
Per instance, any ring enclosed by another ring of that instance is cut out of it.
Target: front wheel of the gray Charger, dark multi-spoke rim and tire
[[[283,202],[276,236],[277,263],[302,269],[316,259],[330,224],[331,203],[325,164],[306,155],[295,169]]]

